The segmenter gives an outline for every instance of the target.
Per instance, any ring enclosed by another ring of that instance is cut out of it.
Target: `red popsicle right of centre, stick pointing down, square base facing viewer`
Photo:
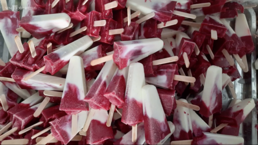
[[[176,36],[176,56],[179,57],[178,64],[189,68],[189,59],[194,51],[195,43],[184,32],[178,32]]]

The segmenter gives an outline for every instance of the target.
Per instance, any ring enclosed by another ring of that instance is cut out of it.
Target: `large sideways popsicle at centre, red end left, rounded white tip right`
[[[159,38],[115,42],[113,60],[121,70],[162,48],[163,41]]]

